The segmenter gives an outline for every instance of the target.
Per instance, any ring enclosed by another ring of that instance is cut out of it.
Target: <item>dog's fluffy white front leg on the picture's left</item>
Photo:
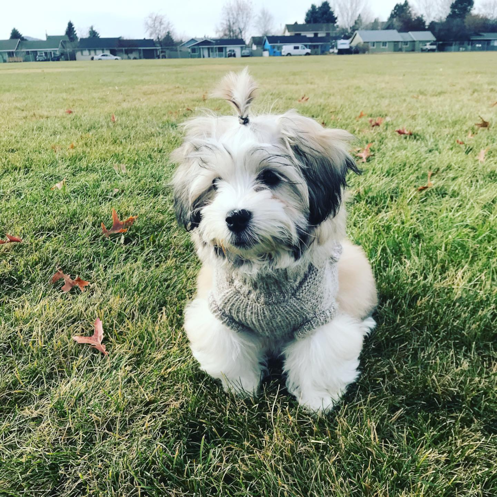
[[[224,326],[197,298],[185,310],[185,330],[200,368],[223,382],[225,390],[255,395],[264,368],[263,340]]]

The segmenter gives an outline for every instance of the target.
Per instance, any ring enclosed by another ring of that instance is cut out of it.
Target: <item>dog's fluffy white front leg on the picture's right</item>
[[[327,412],[359,376],[359,354],[374,319],[346,314],[289,343],[283,354],[287,387],[309,411]]]

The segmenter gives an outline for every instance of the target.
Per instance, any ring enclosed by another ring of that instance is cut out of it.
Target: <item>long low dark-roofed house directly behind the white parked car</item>
[[[158,48],[154,40],[124,40],[119,38],[80,38],[76,48],[76,60],[91,60],[95,55],[110,53],[123,59],[155,59]]]

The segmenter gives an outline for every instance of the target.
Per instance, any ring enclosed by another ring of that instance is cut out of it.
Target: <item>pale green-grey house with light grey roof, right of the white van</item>
[[[419,52],[423,45],[436,41],[431,31],[399,33],[397,29],[365,30],[354,32],[351,47],[369,53]]]

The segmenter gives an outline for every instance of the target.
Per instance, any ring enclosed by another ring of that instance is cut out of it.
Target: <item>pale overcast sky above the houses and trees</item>
[[[370,0],[369,9],[374,16],[385,20],[400,0]],[[435,0],[434,0],[435,1]],[[87,32],[93,24],[101,37],[144,38],[144,19],[150,12],[160,12],[173,23],[181,37],[216,34],[223,5],[226,0],[0,0],[0,40],[9,38],[15,26],[25,35],[45,39],[45,33],[63,34],[67,21],[73,21],[78,33]],[[254,10],[266,7],[274,16],[275,27],[283,29],[286,23],[304,22],[305,11],[311,3],[321,0],[254,0]],[[478,2],[478,0],[477,0]],[[477,4],[475,2],[475,4]],[[330,1],[333,5],[333,1]],[[415,0],[411,1],[415,5]],[[250,34],[260,34],[254,29]]]

